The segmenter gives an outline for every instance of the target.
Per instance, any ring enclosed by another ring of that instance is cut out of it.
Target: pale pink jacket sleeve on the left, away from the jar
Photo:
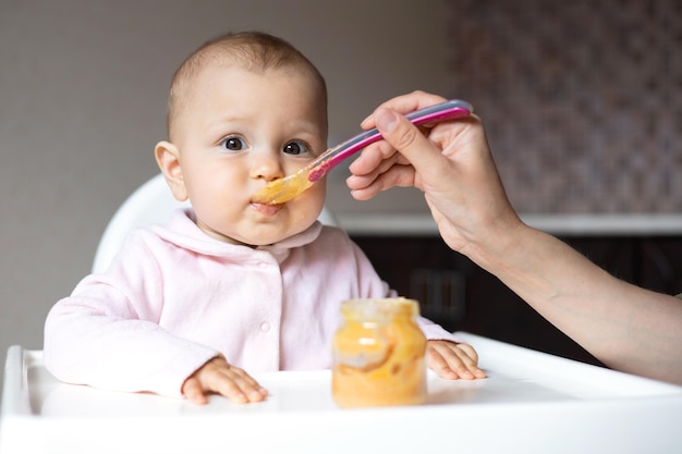
[[[44,358],[59,380],[181,396],[218,352],[159,326],[162,275],[148,236],[134,233],[107,272],[84,278],[45,323]]]

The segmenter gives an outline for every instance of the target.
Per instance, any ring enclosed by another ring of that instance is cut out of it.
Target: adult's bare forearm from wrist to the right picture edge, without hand
[[[682,302],[618,280],[521,224],[470,257],[614,369],[682,383]]]

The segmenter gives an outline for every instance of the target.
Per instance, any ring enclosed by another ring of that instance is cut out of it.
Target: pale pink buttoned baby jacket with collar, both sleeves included
[[[180,396],[218,354],[249,375],[331,367],[348,298],[389,297],[363,251],[316,222],[252,248],[202,232],[192,210],[135,230],[105,273],[83,279],[50,310],[48,370],[70,383]],[[424,319],[427,339],[456,341]]]

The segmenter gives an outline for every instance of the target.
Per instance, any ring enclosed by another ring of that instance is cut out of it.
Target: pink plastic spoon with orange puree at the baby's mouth
[[[474,109],[468,102],[451,99],[410,112],[405,118],[414,124],[438,123],[468,116],[473,111]],[[365,131],[333,148],[329,148],[296,173],[269,182],[263,189],[254,194],[253,200],[268,205],[284,204],[310,187],[313,183],[321,180],[345,158],[380,139],[381,134],[376,127]]]

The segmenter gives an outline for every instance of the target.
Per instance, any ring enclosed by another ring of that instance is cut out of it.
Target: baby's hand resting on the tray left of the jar
[[[217,356],[197,369],[182,384],[182,393],[191,402],[204,405],[208,394],[220,394],[238,404],[260,402],[268,392],[239,367]]]

